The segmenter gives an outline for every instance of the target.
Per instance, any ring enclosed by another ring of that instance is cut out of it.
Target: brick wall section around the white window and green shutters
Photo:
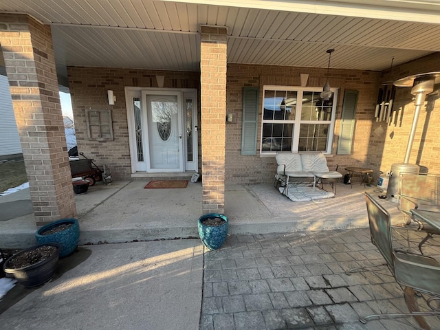
[[[257,140],[257,155],[241,155],[241,121],[243,107],[243,87],[259,87],[262,104],[264,85],[300,86],[300,73],[309,74],[307,86],[321,87],[327,80],[327,69],[312,67],[279,67],[267,65],[228,65],[227,95],[228,113],[236,114],[237,120],[226,125],[226,182],[236,184],[267,184],[272,183],[276,173],[275,157],[260,157],[261,111],[259,110],[259,129]],[[344,173],[347,166],[366,166],[369,151],[368,122],[371,121],[375,110],[377,97],[378,72],[360,70],[331,69],[329,84],[339,87],[338,109],[336,113],[335,136],[331,157],[327,164],[331,170]],[[345,89],[358,90],[358,109],[356,111],[356,127],[354,133],[353,155],[335,155],[340,131],[340,116]]]

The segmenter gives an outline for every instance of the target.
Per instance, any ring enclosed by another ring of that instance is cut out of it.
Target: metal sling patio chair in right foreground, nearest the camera
[[[440,263],[428,256],[397,251],[393,248],[393,235],[391,216],[368,193],[365,194],[366,209],[369,216],[371,242],[377,247],[384,257],[386,265],[395,276],[395,280],[403,287],[415,289],[433,296],[427,300],[432,311],[413,311],[399,314],[371,314],[360,319],[366,323],[370,318],[383,318],[394,316],[414,316],[423,329],[430,329],[419,316],[440,316],[432,302],[440,301]],[[404,290],[405,293],[408,290]]]

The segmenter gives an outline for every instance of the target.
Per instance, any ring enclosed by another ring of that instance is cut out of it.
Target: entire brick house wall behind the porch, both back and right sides
[[[397,90],[394,107],[395,115],[391,124],[386,124],[385,122],[375,122],[375,118],[373,118],[380,83],[384,80],[396,80],[410,74],[434,72],[439,67],[440,55],[433,54],[394,67],[392,76],[390,76],[389,70],[380,73],[331,69],[329,83],[331,87],[339,87],[340,90],[338,93],[336,134],[333,139],[332,155],[327,157],[329,168],[334,169],[338,164],[340,172],[344,173],[343,168],[347,166],[368,166],[375,171],[373,177],[377,180],[380,170],[389,170],[391,164],[403,162],[414,114],[410,88],[399,88]],[[99,164],[109,165],[115,179],[130,179],[131,167],[124,87],[154,87],[155,75],[164,74],[164,72],[90,67],[69,67],[68,72],[80,151],[97,159]],[[321,87],[327,80],[327,69],[228,64],[227,72],[226,112],[234,113],[236,122],[228,123],[225,126],[225,182],[226,184],[272,183],[276,170],[274,157],[241,155],[243,87],[259,87],[261,97],[263,85],[299,86],[300,73],[309,74],[307,86]],[[165,72],[165,76],[165,87],[199,87],[198,72]],[[118,101],[114,106],[107,104],[107,89],[115,91]],[[345,89],[360,91],[355,118],[353,153],[352,155],[336,155]],[[426,107],[422,107],[410,163],[426,166],[430,173],[440,173],[440,161],[438,160],[440,159],[440,146],[438,144],[440,130],[437,129],[440,124],[439,100],[438,96],[428,96],[427,100],[429,101],[428,109],[433,110],[427,113]],[[84,109],[89,109],[89,107],[104,109],[112,107],[115,141],[87,141],[84,131]],[[382,126],[383,133],[377,135],[376,133],[380,130],[376,131],[376,129],[380,126]],[[259,114],[260,132],[261,109]],[[201,148],[199,146],[200,155]],[[201,159],[199,159],[199,166],[201,166]]]

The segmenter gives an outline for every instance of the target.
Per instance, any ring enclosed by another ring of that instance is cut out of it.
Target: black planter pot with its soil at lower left
[[[38,287],[54,276],[60,251],[59,243],[34,245],[6,260],[3,271],[25,287]]]

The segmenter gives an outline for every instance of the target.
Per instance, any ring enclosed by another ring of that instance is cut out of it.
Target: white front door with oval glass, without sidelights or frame
[[[183,168],[181,102],[179,95],[146,96],[149,168],[151,171],[181,171]]]

